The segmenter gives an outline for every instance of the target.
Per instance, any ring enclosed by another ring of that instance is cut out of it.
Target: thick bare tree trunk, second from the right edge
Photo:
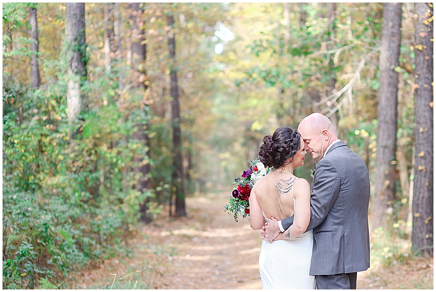
[[[379,57],[380,89],[377,107],[377,157],[375,160],[372,228],[385,227],[386,210],[395,200],[397,92],[401,40],[401,3],[385,3]]]

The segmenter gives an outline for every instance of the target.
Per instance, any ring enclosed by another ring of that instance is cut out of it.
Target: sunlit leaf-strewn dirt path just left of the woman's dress
[[[229,194],[188,199],[188,218],[151,228],[151,238],[164,240],[177,255],[168,261],[159,289],[259,289],[261,239],[248,219],[235,222],[224,211]],[[161,238],[161,239],[159,239]]]

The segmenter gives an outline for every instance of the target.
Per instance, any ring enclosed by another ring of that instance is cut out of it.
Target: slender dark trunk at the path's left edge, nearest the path
[[[173,193],[176,195],[176,214],[186,216],[185,191],[183,188],[183,165],[182,165],[182,137],[180,127],[180,106],[179,106],[179,86],[177,83],[176,70],[176,41],[174,37],[174,16],[167,16],[167,25],[171,28],[168,36],[168,49],[170,51],[171,68],[171,97],[172,101],[172,120],[173,120]]]

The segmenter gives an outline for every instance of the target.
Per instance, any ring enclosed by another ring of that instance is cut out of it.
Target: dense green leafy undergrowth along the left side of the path
[[[154,195],[133,188],[134,157],[148,160],[131,138],[143,111],[124,122],[116,105],[84,112],[70,141],[65,88],[4,84],[4,288],[61,282],[89,260],[129,253],[124,233]]]

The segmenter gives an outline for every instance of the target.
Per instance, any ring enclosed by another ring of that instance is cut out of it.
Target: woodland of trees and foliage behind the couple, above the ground
[[[376,256],[432,257],[432,4],[3,3],[3,287],[128,255],[314,111],[369,168]]]

